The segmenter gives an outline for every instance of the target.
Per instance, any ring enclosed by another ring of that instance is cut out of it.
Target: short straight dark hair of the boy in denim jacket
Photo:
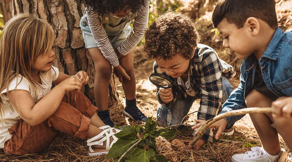
[[[265,21],[272,29],[277,29],[277,14],[275,0],[220,0],[213,11],[212,22],[214,28],[226,18],[242,28],[249,17],[256,17]]]

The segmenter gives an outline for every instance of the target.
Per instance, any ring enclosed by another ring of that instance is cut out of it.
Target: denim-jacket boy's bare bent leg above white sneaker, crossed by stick
[[[263,95],[255,89],[247,94],[245,100],[247,107],[271,107],[273,101],[271,98]],[[271,120],[271,113],[252,113],[250,114],[250,118],[259,134],[264,150],[270,155],[278,155],[281,149],[278,132],[271,126],[274,122]]]

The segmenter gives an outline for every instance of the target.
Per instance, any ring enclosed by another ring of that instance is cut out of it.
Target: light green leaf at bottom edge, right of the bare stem
[[[148,160],[148,158],[153,159],[154,156],[155,156],[155,151],[153,149],[145,151],[145,150],[142,150],[142,149],[136,147],[133,150],[131,162],[150,162]]]

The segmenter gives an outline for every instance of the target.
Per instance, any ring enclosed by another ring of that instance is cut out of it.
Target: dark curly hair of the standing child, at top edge
[[[148,5],[148,0],[74,0],[75,3],[86,7],[87,12],[95,12],[98,15],[105,15],[109,12],[114,13],[119,10],[130,9],[133,13]]]

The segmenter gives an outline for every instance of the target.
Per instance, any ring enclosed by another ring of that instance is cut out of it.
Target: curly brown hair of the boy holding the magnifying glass
[[[148,59],[172,59],[182,54],[190,59],[200,36],[192,19],[183,13],[168,11],[160,15],[145,32],[143,50]]]

